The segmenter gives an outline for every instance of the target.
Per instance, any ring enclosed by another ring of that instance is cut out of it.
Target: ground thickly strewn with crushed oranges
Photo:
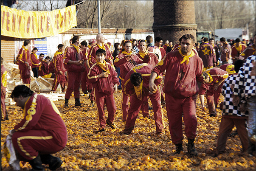
[[[184,134],[183,148],[180,154],[172,155],[175,146],[169,133],[166,108],[163,106],[166,135],[156,135],[153,111],[150,118],[138,115],[135,128],[130,135],[120,135],[124,129],[121,114],[121,90],[115,93],[117,106],[115,124],[118,129],[106,127],[106,132],[97,133],[97,108],[89,107],[87,95],[81,96],[82,107],[74,107],[74,97],[70,98],[70,107],[64,108],[64,101],[55,101],[68,130],[68,143],[54,156],[64,162],[57,170],[251,170],[255,171],[255,153],[253,156],[242,153],[239,136],[228,137],[226,152],[214,157],[221,110],[217,117],[209,117],[203,112],[197,98],[197,137],[195,147],[198,157],[187,154],[187,137]],[[223,100],[221,96],[220,101]],[[206,103],[206,99],[205,99]],[[150,104],[150,101],[149,101]],[[151,105],[151,104],[150,104]],[[3,145],[8,132],[23,118],[22,109],[14,105],[7,106],[8,121],[1,121],[1,166],[2,170],[12,170],[6,161]],[[107,110],[105,108],[107,117]],[[183,125],[183,130],[184,130]],[[235,128],[234,128],[235,129]],[[233,129],[233,130],[234,130]],[[20,162],[21,170],[31,169],[28,163]],[[45,170],[48,165],[44,165]]]

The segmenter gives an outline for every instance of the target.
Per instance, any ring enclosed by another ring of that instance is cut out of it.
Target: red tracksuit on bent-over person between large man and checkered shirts
[[[218,67],[208,69],[205,72],[210,76],[210,83],[202,83],[198,94],[204,95],[206,92],[209,114],[217,115],[216,107],[219,102],[219,95],[221,93],[221,88],[224,84],[224,81],[219,85],[216,91],[213,90],[214,84],[217,84],[222,79],[228,78],[228,73]]]

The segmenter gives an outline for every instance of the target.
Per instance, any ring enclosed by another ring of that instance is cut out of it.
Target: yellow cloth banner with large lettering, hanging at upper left
[[[53,11],[23,11],[1,6],[1,35],[21,39],[54,36],[76,26],[76,6]]]

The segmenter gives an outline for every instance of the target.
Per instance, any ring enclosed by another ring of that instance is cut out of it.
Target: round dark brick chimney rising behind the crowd
[[[154,36],[161,36],[173,44],[184,34],[192,34],[197,41],[194,0],[154,0]]]

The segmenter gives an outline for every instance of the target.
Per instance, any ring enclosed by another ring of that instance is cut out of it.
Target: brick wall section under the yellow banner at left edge
[[[15,55],[15,38],[1,36],[1,56],[5,62],[13,62]]]

